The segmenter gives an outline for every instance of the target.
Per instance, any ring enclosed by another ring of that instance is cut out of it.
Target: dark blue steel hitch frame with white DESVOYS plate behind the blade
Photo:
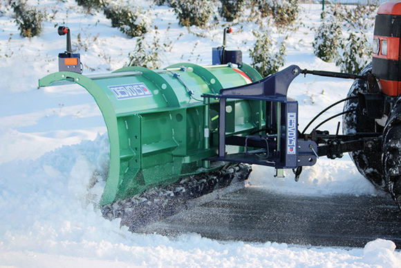
[[[211,161],[250,163],[277,169],[313,166],[317,160],[315,141],[298,140],[298,102],[287,98],[288,87],[301,73],[292,65],[258,82],[241,87],[221,89],[218,94],[204,98],[218,98],[218,157]],[[256,126],[259,135],[232,136],[226,129],[227,99],[259,100],[263,103],[265,129]],[[230,154],[226,145],[242,146],[245,152]],[[257,150],[249,150],[255,148]]]

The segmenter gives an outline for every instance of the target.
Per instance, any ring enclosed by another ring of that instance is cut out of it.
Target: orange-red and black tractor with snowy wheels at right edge
[[[343,133],[380,135],[381,148],[353,150],[350,156],[401,208],[401,1],[380,5],[373,35],[372,62],[360,73],[366,79],[355,80],[344,105],[353,111],[343,116]]]

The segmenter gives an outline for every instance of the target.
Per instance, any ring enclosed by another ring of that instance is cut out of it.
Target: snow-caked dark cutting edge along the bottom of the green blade
[[[136,231],[151,222],[215,199],[219,194],[243,188],[243,181],[248,179],[251,171],[251,166],[246,164],[227,164],[214,172],[188,175],[175,184],[113,202],[103,206],[102,213],[109,220],[121,218],[122,225]]]

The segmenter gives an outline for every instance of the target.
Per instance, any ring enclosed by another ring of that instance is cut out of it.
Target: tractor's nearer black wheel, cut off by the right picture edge
[[[401,98],[395,102],[384,128],[382,160],[388,190],[401,209]]]

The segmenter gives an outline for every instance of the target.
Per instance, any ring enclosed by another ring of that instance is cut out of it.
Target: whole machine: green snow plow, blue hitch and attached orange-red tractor
[[[165,69],[124,67],[108,74],[82,75],[80,55],[59,54],[59,72],[39,87],[76,83],[91,93],[106,123],[109,175],[102,195],[104,216],[122,218],[135,230],[189,206],[189,200],[235,187],[248,179],[250,165],[292,169],[319,157],[349,152],[366,179],[401,207],[401,1],[384,3],[376,17],[373,61],[359,75],[310,71],[299,66],[262,78],[242,62],[241,51],[212,49],[210,66],[178,63]],[[344,110],[310,133],[298,130],[298,103],[288,87],[301,74],[353,79]],[[343,117],[335,134],[319,127]]]

